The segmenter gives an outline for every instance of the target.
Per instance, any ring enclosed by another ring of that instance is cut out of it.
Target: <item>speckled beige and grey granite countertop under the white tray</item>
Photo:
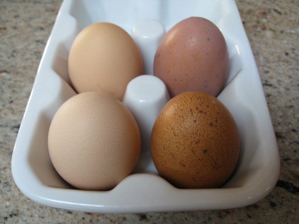
[[[29,200],[13,181],[11,156],[36,70],[61,0],[0,3],[0,223],[296,223],[299,219],[299,3],[237,0],[268,103],[281,168],[274,189],[243,208],[90,214]]]

